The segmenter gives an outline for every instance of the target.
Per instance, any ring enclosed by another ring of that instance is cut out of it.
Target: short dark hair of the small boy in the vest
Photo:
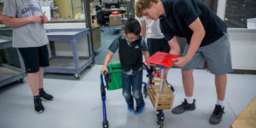
[[[138,20],[135,18],[130,18],[125,22],[125,33],[134,33],[135,35],[139,35],[141,32],[141,26]]]

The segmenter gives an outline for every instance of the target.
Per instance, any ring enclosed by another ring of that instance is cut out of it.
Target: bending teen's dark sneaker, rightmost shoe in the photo
[[[212,116],[210,117],[210,123],[212,125],[217,125],[221,119],[222,119],[222,115],[224,113],[224,107],[222,108],[220,105],[215,105],[215,108],[212,112]]]

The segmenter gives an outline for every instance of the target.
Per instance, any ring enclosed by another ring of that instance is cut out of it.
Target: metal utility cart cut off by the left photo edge
[[[12,38],[0,36],[0,50],[12,48]],[[15,49],[15,48],[13,48]],[[15,49],[17,51],[17,49]],[[23,82],[26,77],[25,66],[20,53],[17,51],[20,67],[14,67],[9,64],[3,63],[0,56],[0,87],[15,81]]]

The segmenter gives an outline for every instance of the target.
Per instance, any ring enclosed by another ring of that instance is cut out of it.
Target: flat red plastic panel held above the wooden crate
[[[157,64],[164,67],[172,67],[173,63],[175,62],[172,59],[177,57],[179,57],[179,55],[171,55],[171,54],[159,51],[154,55],[150,56],[146,60],[146,62]]]

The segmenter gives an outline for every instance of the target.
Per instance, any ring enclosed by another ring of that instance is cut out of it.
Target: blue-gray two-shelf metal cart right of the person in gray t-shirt
[[[49,38],[51,57],[49,58],[49,67],[45,67],[44,72],[73,73],[75,79],[79,79],[79,73],[81,73],[86,67],[91,67],[92,63],[92,48],[89,29],[48,29],[46,32]],[[77,41],[85,36],[87,36],[88,40],[89,56],[79,56]],[[73,47],[73,56],[57,56],[55,53],[54,41],[71,42]]]

